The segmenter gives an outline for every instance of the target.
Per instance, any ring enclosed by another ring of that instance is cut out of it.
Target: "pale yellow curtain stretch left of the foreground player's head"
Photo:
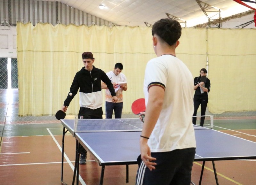
[[[124,65],[128,90],[124,113],[143,97],[144,69],[155,57],[150,27],[112,27],[17,24],[19,115],[54,115],[61,109],[77,71],[83,67],[82,53],[91,51],[94,66],[105,72],[117,62]],[[105,93],[103,90],[102,93]],[[104,97],[104,96],[103,96]],[[79,95],[67,114],[78,114]],[[103,104],[104,109],[104,104]]]

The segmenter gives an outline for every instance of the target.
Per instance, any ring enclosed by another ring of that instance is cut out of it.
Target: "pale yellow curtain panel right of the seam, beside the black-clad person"
[[[256,29],[209,29],[210,112],[256,110]]]

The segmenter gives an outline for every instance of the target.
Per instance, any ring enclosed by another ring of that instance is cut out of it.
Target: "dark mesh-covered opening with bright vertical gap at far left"
[[[17,58],[0,58],[0,89],[18,89]]]

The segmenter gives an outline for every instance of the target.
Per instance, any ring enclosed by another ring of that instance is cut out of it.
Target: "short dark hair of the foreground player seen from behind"
[[[170,18],[160,19],[152,27],[152,35],[154,36],[155,34],[172,46],[181,36],[180,23]]]

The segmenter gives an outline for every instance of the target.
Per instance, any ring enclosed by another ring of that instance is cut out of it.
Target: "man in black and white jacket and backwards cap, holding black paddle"
[[[70,92],[64,101],[62,111],[66,112],[68,106],[74,96],[76,96],[78,89],[80,94],[80,110],[78,118],[81,116],[84,119],[102,119],[102,93],[101,93],[101,81],[106,83],[108,89],[111,92],[112,101],[117,101],[115,89],[108,76],[101,69],[93,66],[95,58],[91,52],[84,52],[82,54],[84,67],[78,71],[74,77],[73,83],[70,87]],[[86,163],[87,151],[80,147],[80,164]]]

